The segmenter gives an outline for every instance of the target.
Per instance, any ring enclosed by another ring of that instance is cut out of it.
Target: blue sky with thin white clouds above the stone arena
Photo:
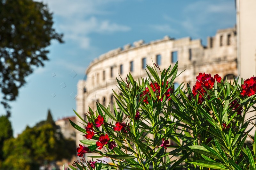
[[[73,116],[76,85],[89,63],[107,51],[143,39],[146,42],[191,37],[202,39],[234,27],[234,0],[43,0],[64,44],[52,41],[50,61],[35,69],[11,103],[14,134],[46,119]],[[54,97],[55,96],[55,97]],[[1,109],[4,113],[4,110]]]

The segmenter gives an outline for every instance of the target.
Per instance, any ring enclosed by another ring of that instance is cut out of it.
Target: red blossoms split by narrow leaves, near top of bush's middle
[[[162,85],[164,85],[164,82],[162,82]],[[150,87],[151,87],[151,89],[153,90],[153,92],[156,94],[156,98],[158,99],[158,101],[159,101],[159,100],[160,100],[160,101],[163,101],[164,96],[165,96],[165,99],[168,99],[168,100],[171,99],[171,98],[170,98],[170,95],[171,95],[171,93],[172,93],[172,91],[173,91],[171,87],[169,87],[169,88],[167,89],[167,91],[164,93],[164,95],[161,96],[161,97],[160,97],[161,87],[160,87],[160,85],[159,85],[158,83],[154,83],[154,84],[153,84],[153,83],[151,82],[151,83],[150,83]],[[167,87],[168,87],[168,81],[166,82],[166,88],[167,88]],[[151,94],[150,94],[150,92],[149,92],[148,87],[146,87],[145,90],[142,92],[142,94],[140,94],[140,97],[146,96],[143,101],[148,104],[148,96],[147,96],[147,94],[148,94],[149,97],[151,97]]]

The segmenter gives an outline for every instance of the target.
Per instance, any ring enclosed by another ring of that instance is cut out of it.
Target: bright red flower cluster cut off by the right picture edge
[[[244,96],[252,96],[256,93],[256,77],[251,77],[244,80],[244,84],[241,85],[242,92],[241,95]]]

